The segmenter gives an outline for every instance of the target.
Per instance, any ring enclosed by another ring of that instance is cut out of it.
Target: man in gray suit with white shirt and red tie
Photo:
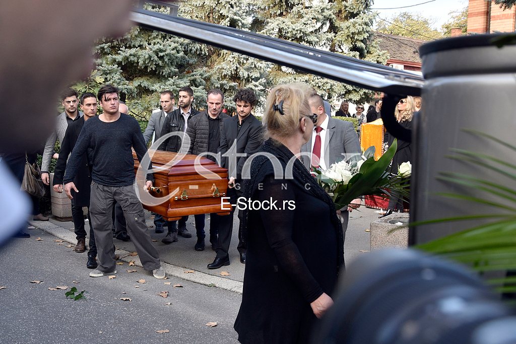
[[[310,96],[309,103],[312,112],[317,114],[317,122],[314,125],[312,138],[301,146],[303,165],[309,171],[312,166],[327,170],[335,162],[341,160],[349,162],[360,159],[362,150],[353,124],[326,116],[322,98],[315,93]],[[319,141],[319,145],[317,145],[317,141]],[[320,149],[319,152],[317,152],[318,148]],[[317,158],[317,153],[320,159]],[[341,210],[341,215],[344,218],[342,224],[344,234],[346,234],[348,211],[357,209],[361,203],[360,199],[353,200],[347,209]]]

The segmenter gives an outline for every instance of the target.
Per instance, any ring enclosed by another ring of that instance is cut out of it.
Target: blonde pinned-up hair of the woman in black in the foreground
[[[264,137],[267,139],[271,135],[279,137],[294,135],[301,117],[312,114],[312,108],[308,102],[311,93],[307,84],[275,86],[270,91],[265,105]],[[280,113],[280,109],[283,114]]]

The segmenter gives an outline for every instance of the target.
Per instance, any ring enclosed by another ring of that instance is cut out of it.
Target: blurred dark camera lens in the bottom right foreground
[[[413,250],[346,270],[313,343],[514,343],[516,317],[472,273]]]

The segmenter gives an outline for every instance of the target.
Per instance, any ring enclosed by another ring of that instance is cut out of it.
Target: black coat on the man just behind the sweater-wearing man
[[[63,183],[68,156],[72,153],[83,126],[84,116],[82,119],[72,122],[66,129],[65,138],[61,143],[61,151],[59,152],[59,158],[57,159],[54,170],[53,185]],[[79,192],[77,193],[72,190],[72,204],[80,207],[88,207],[90,205],[91,165],[87,154],[84,154],[80,160],[77,174],[75,178],[73,178],[73,183]]]

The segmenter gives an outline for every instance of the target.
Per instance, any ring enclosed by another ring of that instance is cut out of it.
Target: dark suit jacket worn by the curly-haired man
[[[224,121],[220,132],[220,146],[218,153],[222,155],[222,167],[228,169],[229,177],[239,180],[242,176],[242,168],[247,158],[256,153],[263,144],[262,122],[252,114],[244,120],[238,132],[238,116],[233,116]],[[235,143],[236,142],[236,143]],[[233,144],[235,146],[233,147]],[[228,156],[223,156],[228,153]],[[236,153],[245,153],[246,156],[237,156]]]

